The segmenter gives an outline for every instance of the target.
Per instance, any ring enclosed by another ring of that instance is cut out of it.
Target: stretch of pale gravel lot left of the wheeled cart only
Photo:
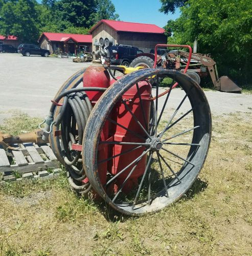
[[[15,111],[44,117],[62,83],[88,65],[68,58],[0,53],[0,122]]]

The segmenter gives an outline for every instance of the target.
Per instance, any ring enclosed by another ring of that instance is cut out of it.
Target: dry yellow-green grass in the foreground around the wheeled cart
[[[91,195],[78,197],[64,170],[57,180],[7,183],[0,255],[251,255],[251,115],[213,116],[198,179],[156,214],[126,217]]]

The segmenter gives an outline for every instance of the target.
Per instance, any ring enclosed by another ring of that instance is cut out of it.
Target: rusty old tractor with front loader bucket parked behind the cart
[[[162,56],[157,55],[157,50],[160,47],[166,48],[166,54]],[[167,48],[184,48],[178,45],[156,45],[155,53],[140,53],[130,63],[130,67],[145,67],[145,68],[164,68],[184,72],[187,67],[190,53],[182,50],[167,50]],[[184,72],[185,73],[185,72]],[[222,92],[240,93],[241,88],[238,87],[227,76],[219,78],[216,67],[216,62],[209,54],[197,53],[197,41],[194,41],[193,53],[191,53],[191,61],[186,73],[191,76],[198,84],[200,78],[210,75],[213,85],[216,90]]]

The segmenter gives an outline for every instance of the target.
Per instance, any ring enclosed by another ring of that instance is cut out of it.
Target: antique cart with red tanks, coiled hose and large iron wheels
[[[183,73],[112,66],[111,41],[99,42],[91,66],[70,77],[55,95],[41,130],[32,138],[2,135],[2,145],[50,141],[79,195],[102,198],[107,207],[130,216],[161,210],[196,181],[211,140],[208,100],[185,74],[192,49],[184,46],[189,56]],[[101,64],[102,56],[107,65]],[[175,83],[164,90],[158,81],[166,77]]]

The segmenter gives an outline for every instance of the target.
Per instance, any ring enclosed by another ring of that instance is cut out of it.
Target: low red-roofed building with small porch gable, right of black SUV
[[[76,54],[80,51],[91,51],[92,36],[44,32],[39,37],[38,42],[42,49],[47,49],[51,53]]]

